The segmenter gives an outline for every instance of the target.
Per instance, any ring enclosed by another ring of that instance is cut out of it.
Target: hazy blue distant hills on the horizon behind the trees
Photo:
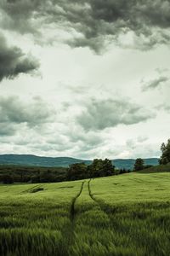
[[[116,159],[112,160],[116,168],[133,169],[135,160],[133,159]],[[44,157],[33,154],[0,154],[0,165],[16,165],[16,166],[69,166],[74,163],[85,162],[87,165],[92,163],[92,160],[80,160],[71,157]],[[145,165],[158,165],[158,158],[144,159]]]

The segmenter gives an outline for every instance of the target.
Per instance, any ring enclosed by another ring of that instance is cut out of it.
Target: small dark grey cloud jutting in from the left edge
[[[18,47],[8,47],[0,34],[0,81],[14,79],[20,73],[31,73],[39,67],[38,62],[31,56],[26,56]]]

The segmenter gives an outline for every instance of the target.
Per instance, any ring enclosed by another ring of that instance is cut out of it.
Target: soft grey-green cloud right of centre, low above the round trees
[[[104,130],[117,125],[133,125],[153,118],[155,115],[126,100],[91,100],[77,117],[86,131]]]

